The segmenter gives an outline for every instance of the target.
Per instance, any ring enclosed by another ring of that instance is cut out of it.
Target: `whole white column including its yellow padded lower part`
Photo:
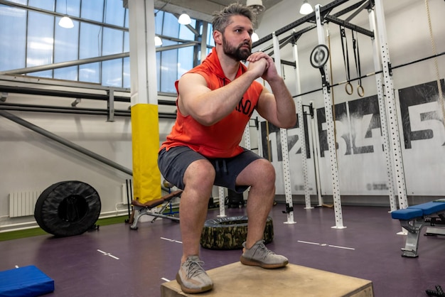
[[[161,197],[154,0],[128,6],[134,198],[144,203]]]

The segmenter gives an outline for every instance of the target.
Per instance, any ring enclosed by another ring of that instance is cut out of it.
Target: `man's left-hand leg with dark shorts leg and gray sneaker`
[[[205,273],[199,258],[199,242],[215,169],[206,158],[186,147],[161,151],[158,163],[164,177],[183,189],[179,205],[183,255],[176,281],[185,293],[208,291],[213,288],[213,281]]]

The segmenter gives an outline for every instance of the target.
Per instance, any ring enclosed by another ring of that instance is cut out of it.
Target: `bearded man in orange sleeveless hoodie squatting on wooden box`
[[[253,53],[253,14],[240,4],[214,13],[215,48],[176,82],[178,114],[159,151],[163,177],[183,189],[180,203],[183,255],[176,280],[185,293],[213,288],[199,259],[200,234],[213,185],[237,193],[250,187],[248,234],[242,264],[273,269],[288,264],[262,240],[275,195],[272,164],[239,146],[254,109],[275,126],[296,123],[295,104],[272,58]],[[241,60],[247,60],[246,67]],[[266,80],[272,92],[259,82]]]

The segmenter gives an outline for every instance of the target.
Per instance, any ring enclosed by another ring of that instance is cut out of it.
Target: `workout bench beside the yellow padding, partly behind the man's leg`
[[[163,211],[166,209],[167,205],[170,204],[170,200],[176,197],[181,197],[182,190],[176,190],[168,195],[162,196],[159,199],[150,200],[145,203],[141,203],[138,200],[132,200],[133,205],[133,211],[132,215],[130,217],[129,223],[132,224],[130,226],[130,229],[137,230],[137,223],[139,222],[139,218],[143,215],[151,215],[154,217],[151,222],[154,222],[158,217],[163,217],[165,219],[179,221],[178,217],[173,217],[173,215],[165,215],[163,214]],[[159,206],[166,202],[162,207],[161,210],[157,212],[150,212],[154,207]]]

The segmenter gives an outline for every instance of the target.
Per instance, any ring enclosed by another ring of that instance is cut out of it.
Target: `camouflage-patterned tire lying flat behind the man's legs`
[[[200,244],[205,249],[242,249],[242,243],[246,238],[247,216],[219,217],[205,221]],[[267,217],[263,239],[264,244],[274,239],[272,217]]]

